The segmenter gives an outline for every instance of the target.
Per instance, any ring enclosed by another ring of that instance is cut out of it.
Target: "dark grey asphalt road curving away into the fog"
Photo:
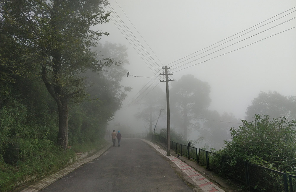
[[[120,144],[42,192],[193,191],[178,177],[167,158],[147,143],[122,139]]]

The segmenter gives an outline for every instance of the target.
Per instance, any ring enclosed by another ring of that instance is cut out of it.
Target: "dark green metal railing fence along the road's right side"
[[[167,144],[166,138],[159,135],[154,135],[152,140]],[[187,145],[175,141],[171,141],[170,145],[171,149],[180,153],[181,156],[195,159],[199,165],[245,184],[249,191],[296,192],[295,175],[287,176],[287,173],[247,161],[234,160],[225,155],[203,149],[199,149],[197,153],[196,147],[187,148]]]

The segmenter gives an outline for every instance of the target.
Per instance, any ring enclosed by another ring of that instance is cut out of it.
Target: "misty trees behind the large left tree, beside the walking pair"
[[[70,142],[76,140],[84,142],[84,138],[92,142],[106,134],[107,122],[114,118],[115,112],[120,109],[130,87],[121,85],[128,64],[126,48],[123,45],[106,43],[98,44],[93,48],[99,55],[99,60],[109,58],[115,64],[102,67],[102,71],[87,71],[88,86],[86,93],[89,99],[84,100],[80,106],[70,109],[69,134]]]

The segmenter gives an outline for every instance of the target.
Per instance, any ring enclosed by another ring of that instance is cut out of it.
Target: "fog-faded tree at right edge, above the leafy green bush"
[[[278,92],[260,92],[247,107],[246,120],[251,121],[255,115],[269,115],[271,118],[285,117],[296,119],[296,96],[283,96]]]

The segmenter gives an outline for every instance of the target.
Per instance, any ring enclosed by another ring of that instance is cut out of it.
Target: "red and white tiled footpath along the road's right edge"
[[[158,145],[156,145],[150,141],[147,141],[146,139],[141,139],[141,140],[148,143],[152,147],[154,147],[158,152],[160,152],[164,156],[167,155],[167,152],[165,150],[161,149]],[[173,163],[175,163],[203,191],[205,191],[205,192],[214,192],[214,191],[225,192],[221,188],[216,186],[214,183],[210,182],[207,178],[203,177],[200,173],[198,173],[192,167],[187,165],[185,162],[178,159],[177,157],[174,157],[172,155],[166,156],[166,157],[168,157],[169,160],[171,160]]]

